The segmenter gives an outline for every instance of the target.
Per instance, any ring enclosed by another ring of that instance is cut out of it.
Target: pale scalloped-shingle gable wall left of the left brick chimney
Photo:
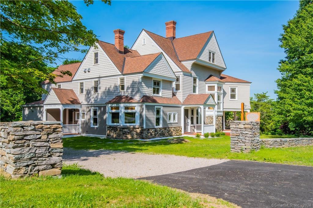
[[[76,80],[121,74],[101,47],[98,44],[97,46],[98,48],[90,48],[83,65],[80,67],[80,71],[77,72]],[[97,65],[94,65],[94,52],[98,52],[99,64]],[[84,69],[89,68],[90,72],[84,72]]]

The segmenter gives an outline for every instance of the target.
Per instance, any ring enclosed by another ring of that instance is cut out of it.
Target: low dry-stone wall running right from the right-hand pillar
[[[260,139],[266,148],[296,147],[313,145],[313,138]]]

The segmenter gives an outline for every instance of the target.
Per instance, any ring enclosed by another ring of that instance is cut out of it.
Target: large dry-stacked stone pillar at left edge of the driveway
[[[60,122],[0,123],[0,171],[6,177],[61,176]]]

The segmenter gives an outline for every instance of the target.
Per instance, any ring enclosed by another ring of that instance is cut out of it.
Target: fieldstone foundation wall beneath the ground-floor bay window
[[[143,128],[142,126],[107,126],[107,138],[150,139],[182,135],[182,127]]]

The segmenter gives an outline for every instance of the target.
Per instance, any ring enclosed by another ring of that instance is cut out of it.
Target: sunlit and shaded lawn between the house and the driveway
[[[257,152],[230,152],[230,137],[213,139],[197,139],[184,137],[190,143],[173,144],[166,140],[138,141],[113,140],[96,137],[64,138],[64,147],[74,149],[107,149],[127,152],[145,152],[157,154],[173,154],[187,157],[226,158],[234,160],[251,160],[274,162],[291,165],[313,166],[313,146],[290,148],[262,148]]]

